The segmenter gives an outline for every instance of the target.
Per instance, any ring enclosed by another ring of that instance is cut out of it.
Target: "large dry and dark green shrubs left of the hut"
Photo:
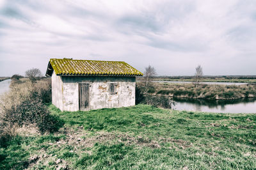
[[[33,124],[44,133],[54,132],[63,125],[63,121],[52,116],[44,104],[51,102],[49,81],[15,84],[0,101],[0,140],[2,141],[12,137],[4,127]]]

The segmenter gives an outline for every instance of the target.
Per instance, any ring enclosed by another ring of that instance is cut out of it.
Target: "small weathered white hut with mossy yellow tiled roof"
[[[52,104],[61,111],[135,105],[136,76],[123,61],[50,59],[46,76],[52,81]]]

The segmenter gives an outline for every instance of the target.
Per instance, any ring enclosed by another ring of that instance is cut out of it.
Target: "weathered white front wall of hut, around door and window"
[[[89,108],[101,109],[135,105],[135,77],[63,76],[63,111],[79,110],[78,83],[89,87]],[[116,94],[110,95],[109,84],[116,83]],[[53,99],[53,98],[52,98]]]

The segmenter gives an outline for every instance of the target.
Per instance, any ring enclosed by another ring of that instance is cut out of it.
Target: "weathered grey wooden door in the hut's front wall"
[[[89,84],[79,83],[79,111],[89,109]]]

